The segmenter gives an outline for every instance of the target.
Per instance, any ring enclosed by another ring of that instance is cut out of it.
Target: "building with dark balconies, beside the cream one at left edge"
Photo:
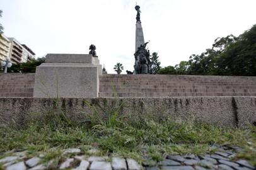
[[[25,44],[21,45],[15,38],[9,38],[9,41],[11,42],[9,53],[11,62],[17,64],[35,59],[35,53]]]

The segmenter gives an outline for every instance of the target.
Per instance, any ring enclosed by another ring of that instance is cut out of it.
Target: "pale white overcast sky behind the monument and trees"
[[[137,0],[145,41],[161,66],[189,60],[218,37],[256,24],[256,0]],[[88,54],[91,43],[108,73],[133,71],[136,0],[0,0],[4,35],[48,53]]]

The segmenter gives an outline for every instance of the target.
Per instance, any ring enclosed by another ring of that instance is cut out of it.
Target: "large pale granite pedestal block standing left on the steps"
[[[47,54],[36,69],[33,97],[98,97],[101,68],[91,54]]]

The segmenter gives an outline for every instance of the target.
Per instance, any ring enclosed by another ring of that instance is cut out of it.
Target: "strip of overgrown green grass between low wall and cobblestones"
[[[0,128],[0,152],[28,150],[31,156],[43,153],[44,161],[62,159],[61,150],[79,147],[86,154],[91,147],[101,156],[132,157],[141,162],[144,156],[161,161],[168,154],[204,154],[214,152],[212,144],[239,146],[239,158],[256,166],[256,127],[224,128],[199,122],[155,122],[141,119],[125,122],[119,108],[106,121],[96,113],[91,122],[72,122],[61,111],[49,111],[23,127]]]

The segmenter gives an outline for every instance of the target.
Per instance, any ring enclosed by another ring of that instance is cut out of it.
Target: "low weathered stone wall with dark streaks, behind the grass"
[[[59,101],[56,106],[56,101]],[[91,106],[88,106],[90,103]],[[122,105],[123,103],[123,105]],[[256,123],[256,97],[187,97],[187,98],[0,98],[0,124],[22,125],[45,111],[65,111],[72,120],[83,122],[88,114],[102,118],[120,108],[127,121],[150,117],[187,120],[195,118],[214,125],[242,127]]]

